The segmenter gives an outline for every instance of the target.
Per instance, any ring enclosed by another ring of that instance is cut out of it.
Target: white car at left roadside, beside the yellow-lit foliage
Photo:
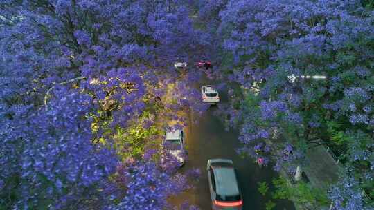
[[[186,161],[187,151],[184,149],[184,132],[181,129],[167,131],[162,145],[163,154],[161,155],[161,165],[166,165],[168,155],[177,159],[179,166],[183,166]]]

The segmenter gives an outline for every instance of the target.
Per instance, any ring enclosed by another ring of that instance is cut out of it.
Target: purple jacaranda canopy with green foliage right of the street
[[[239,152],[294,172],[308,149],[327,144],[353,170],[342,174],[344,183],[356,185],[348,193],[335,191],[334,198],[341,196],[335,208],[370,209],[361,195],[374,183],[370,6],[228,1],[219,10],[211,19],[220,20],[220,73],[241,86],[231,90],[226,109],[231,124],[242,128]]]

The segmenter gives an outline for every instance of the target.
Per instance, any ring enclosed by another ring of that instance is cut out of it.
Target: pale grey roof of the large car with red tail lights
[[[233,167],[213,167],[215,187],[218,195],[238,195],[238,181]]]

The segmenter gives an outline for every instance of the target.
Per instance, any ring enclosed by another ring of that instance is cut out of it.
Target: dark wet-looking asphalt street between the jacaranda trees
[[[209,84],[204,79],[204,84]],[[198,88],[198,86],[195,86]],[[220,91],[221,103],[227,102],[226,90]],[[265,198],[258,193],[258,182],[271,182],[276,173],[271,166],[260,169],[253,160],[240,158],[235,149],[240,147],[238,140],[239,131],[225,131],[224,124],[213,115],[217,106],[211,106],[202,116],[190,115],[197,124],[189,124],[186,128],[186,145],[188,149],[188,162],[182,171],[200,169],[202,177],[195,185],[195,189],[181,193],[173,202],[181,203],[188,200],[190,204],[197,205],[200,209],[210,209],[211,195],[208,189],[206,162],[211,158],[229,158],[233,160],[238,172],[240,188],[242,190],[244,209],[265,210],[265,203],[270,198]],[[271,190],[271,189],[269,189]],[[276,210],[293,210],[292,202],[287,200],[273,200]]]

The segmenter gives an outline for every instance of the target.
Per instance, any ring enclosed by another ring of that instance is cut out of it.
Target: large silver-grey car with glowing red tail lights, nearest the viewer
[[[232,160],[211,159],[208,171],[211,207],[213,210],[242,210],[242,195]]]

